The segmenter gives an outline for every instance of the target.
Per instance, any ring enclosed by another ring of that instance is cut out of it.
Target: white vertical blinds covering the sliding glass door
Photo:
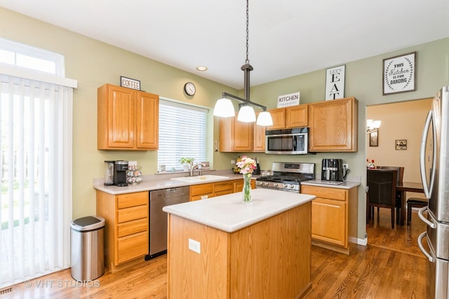
[[[72,96],[0,75],[0,287],[69,267]]]

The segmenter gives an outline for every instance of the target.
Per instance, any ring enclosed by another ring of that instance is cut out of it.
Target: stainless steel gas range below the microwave
[[[273,175],[260,176],[256,188],[300,192],[301,181],[315,179],[315,163],[273,162]]]

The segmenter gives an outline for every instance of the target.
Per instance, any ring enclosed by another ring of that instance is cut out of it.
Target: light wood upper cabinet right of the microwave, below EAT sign
[[[357,122],[354,97],[309,104],[309,150],[356,152]]]

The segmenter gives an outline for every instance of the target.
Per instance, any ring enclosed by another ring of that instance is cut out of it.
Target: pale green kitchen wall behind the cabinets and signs
[[[241,90],[234,90],[196,76],[195,70],[192,70],[192,73],[181,71],[4,8],[0,8],[0,19],[2,20],[0,37],[65,55],[66,76],[78,81],[78,88],[74,91],[73,118],[73,218],[95,214],[93,179],[103,176],[104,160],[138,160],[144,174],[154,174],[157,169],[156,151],[142,153],[97,150],[96,91],[100,85],[105,83],[119,85],[119,77],[127,76],[140,80],[142,90],[161,95],[161,97],[211,108],[223,91],[234,95],[241,94]],[[105,32],[105,34],[113,33]],[[417,91],[382,96],[382,59],[413,51],[417,51]],[[271,163],[275,160],[316,162],[317,172],[319,172],[322,158],[342,158],[349,163],[351,174],[362,177],[358,199],[358,237],[363,239],[365,234],[366,135],[364,126],[366,106],[432,97],[438,88],[448,85],[449,38],[364,60],[340,62],[339,64],[346,64],[344,95],[354,96],[359,101],[358,152],[295,156],[265,155],[263,153],[257,155],[248,153],[248,155],[256,156],[260,160],[262,168],[265,169],[271,167]],[[240,66],[236,65],[236,68],[240,68]],[[325,72],[326,70],[322,69],[255,86],[251,88],[251,99],[268,108],[276,108],[278,95],[300,91],[302,104],[322,101],[324,99]],[[197,92],[194,97],[187,97],[182,91],[182,87],[187,81],[192,81],[196,85]],[[210,156],[212,157],[210,162],[213,163],[215,169],[229,169],[232,167],[230,160],[235,160],[237,154],[212,151],[213,140],[218,139],[218,128],[217,120],[212,120],[212,116],[210,119],[213,123],[213,132],[210,134],[209,141]]]

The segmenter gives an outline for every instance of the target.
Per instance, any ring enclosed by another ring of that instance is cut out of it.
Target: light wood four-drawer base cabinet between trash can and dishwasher
[[[97,190],[97,214],[105,218],[105,266],[114,272],[148,254],[147,191],[111,195]]]

